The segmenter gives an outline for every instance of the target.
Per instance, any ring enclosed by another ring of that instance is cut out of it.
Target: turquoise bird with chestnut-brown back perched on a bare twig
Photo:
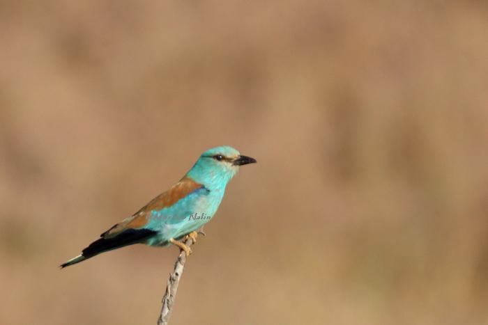
[[[207,150],[183,178],[132,216],[103,232],[82,253],[61,268],[132,244],[174,244],[190,255],[182,239],[197,238],[196,230],[210,221],[222,202],[227,183],[240,166],[257,162],[227,145]],[[184,241],[184,240],[183,240]]]

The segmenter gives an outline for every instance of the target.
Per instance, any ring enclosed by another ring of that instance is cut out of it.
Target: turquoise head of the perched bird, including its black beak
[[[187,175],[208,189],[220,189],[225,188],[240,166],[255,162],[256,159],[243,156],[228,145],[222,145],[201,154]]]

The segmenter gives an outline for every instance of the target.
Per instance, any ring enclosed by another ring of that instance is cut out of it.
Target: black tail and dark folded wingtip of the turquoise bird
[[[78,255],[77,257],[73,257],[66,263],[61,264],[60,267],[61,269],[63,269],[65,267],[69,267],[70,265],[88,260],[90,257],[93,257],[100,253],[112,251],[116,248],[121,248],[123,246],[140,243],[156,234],[157,232],[148,229],[128,229],[112,238],[102,237],[96,241],[93,241],[93,243],[86,247],[80,255]]]

